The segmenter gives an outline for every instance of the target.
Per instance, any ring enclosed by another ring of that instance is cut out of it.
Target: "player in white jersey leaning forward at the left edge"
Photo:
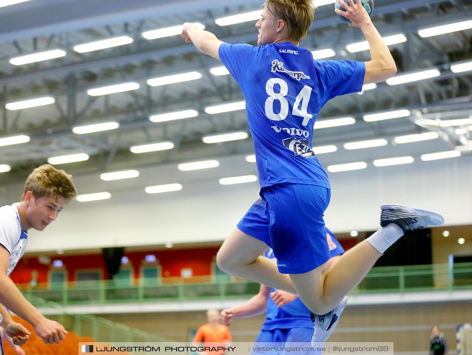
[[[57,218],[64,205],[77,197],[71,177],[64,170],[42,165],[26,179],[18,206],[0,208],[0,315],[3,318],[1,325],[10,336],[8,329],[13,321],[5,307],[30,323],[46,344],[57,344],[67,334],[62,325],[39,313],[8,275],[25,253],[28,229],[44,230]],[[26,341],[30,334],[25,328],[22,331],[13,334],[20,340],[16,344]]]

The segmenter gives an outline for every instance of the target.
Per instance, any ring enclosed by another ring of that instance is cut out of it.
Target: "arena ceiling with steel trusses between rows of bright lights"
[[[332,1],[326,5],[321,1],[329,0],[318,1],[315,21],[301,45],[311,51],[332,50],[326,60],[369,60],[368,50],[346,47],[365,40],[360,29],[339,21]],[[0,183],[21,181],[35,166],[67,154],[90,157],[57,165],[75,175],[253,154],[250,135],[224,143],[202,142],[207,135],[249,133],[244,110],[207,113],[208,107],[244,100],[229,75],[212,74],[211,69],[221,62],[198,53],[178,35],[148,39],[143,33],[189,21],[204,25],[225,42],[255,44],[255,20],[224,26],[215,20],[260,6],[260,1],[253,0],[29,0],[0,7],[0,145],[2,138],[29,137],[26,143],[0,146],[0,167],[11,169],[0,174]],[[315,129],[314,147],[334,145],[337,150],[319,154],[321,163],[371,164],[402,156],[412,156],[416,163],[428,153],[470,154],[472,70],[457,71],[460,66],[455,65],[472,61],[472,1],[376,0],[372,18],[383,37],[399,42],[389,45],[397,77],[418,72],[431,77],[397,85],[383,82],[362,94],[329,101],[321,110],[320,122],[351,117],[355,123]],[[430,29],[460,22],[463,29],[459,31],[434,34]],[[421,32],[424,29],[428,29],[426,34]],[[83,53],[76,48],[117,37],[128,44]],[[14,59],[45,51],[55,51],[58,58],[29,64]],[[182,73],[187,73],[186,79],[196,79],[159,86],[147,82]],[[135,89],[99,96],[88,92],[123,83],[135,83]],[[21,101],[42,98],[50,98],[46,101],[51,103],[17,109]],[[9,105],[17,102],[17,107]],[[194,117],[150,120],[153,115],[182,110],[192,110]],[[403,117],[364,119],[375,113],[385,117],[390,111],[401,111]],[[89,134],[73,132],[74,127],[108,122],[119,127]],[[419,139],[424,140],[419,142],[402,144],[396,138],[422,133],[429,135],[421,135]],[[375,148],[344,147],[366,140],[382,141]],[[130,152],[132,146],[162,142],[172,143],[173,148]]]

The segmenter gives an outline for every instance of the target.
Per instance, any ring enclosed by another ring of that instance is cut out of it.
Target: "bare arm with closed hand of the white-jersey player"
[[[67,331],[57,321],[46,319],[30,304],[7,276],[10,254],[0,246],[0,303],[30,323],[36,334],[46,344],[58,344],[65,339]]]

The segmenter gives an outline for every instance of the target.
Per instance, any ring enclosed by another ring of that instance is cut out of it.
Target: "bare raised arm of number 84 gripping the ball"
[[[387,45],[372,24],[371,18],[363,8],[361,1],[348,0],[350,6],[342,0],[337,0],[346,11],[335,9],[336,13],[351,20],[350,26],[359,27],[371,47],[372,60],[365,63],[364,84],[378,83],[396,74],[396,64]]]

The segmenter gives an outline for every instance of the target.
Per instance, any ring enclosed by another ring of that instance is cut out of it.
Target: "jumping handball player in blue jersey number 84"
[[[241,87],[253,136],[256,165],[266,202],[270,243],[277,263],[262,254],[264,236],[238,224],[221,246],[221,270],[297,293],[313,316],[312,341],[324,342],[337,325],[349,293],[377,259],[407,230],[439,225],[436,213],[399,205],[381,206],[381,227],[327,270],[329,247],[323,213],[328,207],[328,176],[312,151],[312,132],[322,106],[338,95],[362,91],[363,84],[396,74],[395,62],[361,1],[338,0],[350,26],[360,27],[371,60],[313,60],[298,46],[314,17],[312,0],[267,0],[258,45],[228,44],[185,23],[182,37],[202,53],[220,59]],[[333,17],[336,21],[337,17]],[[264,221],[265,222],[265,221]]]

